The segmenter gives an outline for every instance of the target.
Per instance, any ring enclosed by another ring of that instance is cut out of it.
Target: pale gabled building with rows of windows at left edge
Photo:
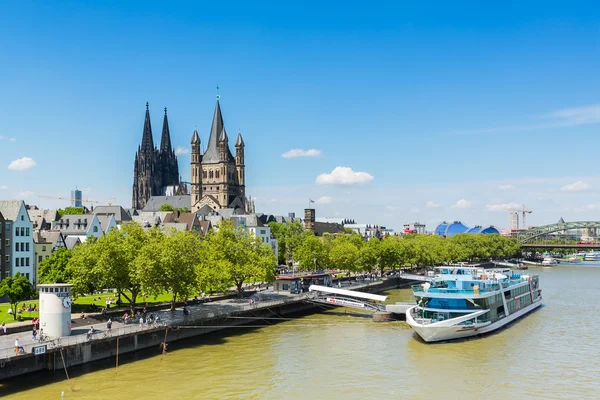
[[[29,279],[33,285],[35,248],[33,245],[33,223],[29,219],[25,202],[22,200],[0,201],[0,214],[4,216],[5,270],[7,276],[17,272]]]

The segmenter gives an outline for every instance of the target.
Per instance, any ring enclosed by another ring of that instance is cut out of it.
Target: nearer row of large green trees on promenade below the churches
[[[141,294],[177,300],[204,291],[241,293],[244,283],[270,281],[276,258],[259,238],[222,222],[204,238],[194,232],[143,229],[135,223],[59,249],[40,263],[40,283],[72,283],[74,294],[116,289],[133,311]]]

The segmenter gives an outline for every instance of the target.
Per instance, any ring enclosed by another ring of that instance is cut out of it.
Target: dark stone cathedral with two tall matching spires
[[[177,156],[171,147],[171,134],[167,109],[163,119],[160,148],[154,146],[149,105],[146,103],[146,117],[142,132],[142,144],[135,153],[133,167],[132,207],[141,210],[150,196],[159,196],[168,186],[180,186]]]

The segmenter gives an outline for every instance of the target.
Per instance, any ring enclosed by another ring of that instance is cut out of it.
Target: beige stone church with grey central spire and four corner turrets
[[[229,149],[229,136],[218,99],[206,151],[202,153],[200,150],[197,130],[194,130],[191,144],[192,212],[208,206],[213,210],[240,208],[253,213],[253,204],[246,199],[244,140],[238,133],[234,156]]]

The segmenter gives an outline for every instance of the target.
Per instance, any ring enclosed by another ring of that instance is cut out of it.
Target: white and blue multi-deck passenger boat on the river
[[[510,269],[438,267],[431,282],[414,285],[416,305],[406,322],[425,341],[492,332],[542,305],[538,275]]]

